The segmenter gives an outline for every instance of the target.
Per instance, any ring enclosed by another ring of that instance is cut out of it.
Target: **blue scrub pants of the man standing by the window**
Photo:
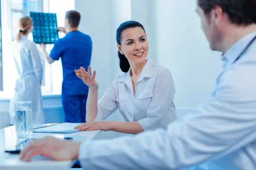
[[[86,115],[87,94],[62,95],[62,105],[65,113],[65,122],[84,123]]]

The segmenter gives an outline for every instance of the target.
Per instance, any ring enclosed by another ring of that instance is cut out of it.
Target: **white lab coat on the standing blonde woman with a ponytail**
[[[43,68],[35,42],[21,35],[19,42],[12,42],[12,52],[18,77],[10,101],[10,124],[15,124],[15,102],[18,101],[31,101],[33,123],[44,123],[41,95]]]

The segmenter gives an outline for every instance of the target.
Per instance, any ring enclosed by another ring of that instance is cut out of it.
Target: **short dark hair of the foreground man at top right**
[[[205,14],[220,6],[228,14],[231,23],[237,25],[256,23],[256,0],[198,0],[198,5]]]

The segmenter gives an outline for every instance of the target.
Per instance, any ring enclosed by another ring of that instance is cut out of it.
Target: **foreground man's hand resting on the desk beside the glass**
[[[46,156],[58,161],[74,160],[78,159],[80,145],[80,142],[47,136],[29,142],[20,153],[20,160],[29,161],[36,155]]]

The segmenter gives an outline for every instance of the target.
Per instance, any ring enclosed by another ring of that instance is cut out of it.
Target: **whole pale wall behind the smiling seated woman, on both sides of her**
[[[220,53],[209,49],[195,7],[195,0],[75,0],[82,16],[79,29],[93,39],[91,66],[100,85],[99,97],[122,74],[116,28],[126,20],[137,20],[148,35],[148,56],[172,73],[175,104],[196,107],[207,100],[222,64]]]

